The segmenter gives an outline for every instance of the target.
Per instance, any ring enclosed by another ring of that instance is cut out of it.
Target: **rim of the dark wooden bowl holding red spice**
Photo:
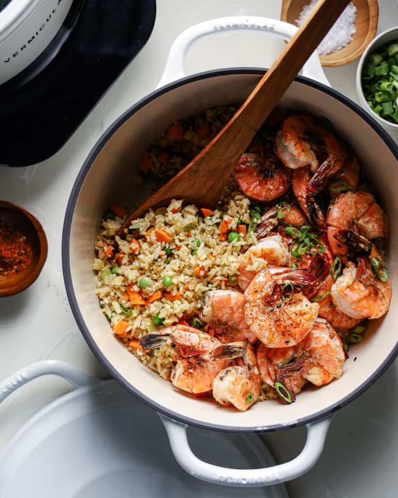
[[[24,278],[21,282],[15,285],[10,285],[9,287],[0,289],[0,297],[6,297],[22,292],[23,290],[27,289],[30,285],[32,285],[32,283],[37,279],[47,259],[48,243],[47,243],[46,234],[43,230],[41,223],[37,218],[35,218],[31,213],[29,213],[29,211],[26,211],[21,206],[18,206],[8,201],[0,201],[0,208],[6,208],[11,211],[17,211],[32,223],[33,228],[39,239],[39,249],[40,249],[37,263],[32,269],[32,271],[26,276],[26,278]]]

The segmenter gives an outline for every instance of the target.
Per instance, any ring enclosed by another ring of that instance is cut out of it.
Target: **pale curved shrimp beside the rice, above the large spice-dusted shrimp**
[[[254,258],[265,259],[271,266],[285,266],[289,264],[289,247],[285,240],[277,234],[262,239],[255,246],[250,247],[239,256],[238,283],[245,290],[256,274],[252,269]]]

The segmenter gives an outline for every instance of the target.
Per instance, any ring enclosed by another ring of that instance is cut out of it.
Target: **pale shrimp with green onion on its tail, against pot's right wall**
[[[371,262],[386,281],[377,276]],[[385,274],[382,274],[385,269]],[[357,265],[348,261],[341,276],[331,287],[333,305],[352,318],[380,318],[387,313],[391,299],[391,284],[379,251],[372,244],[370,255],[357,258]]]

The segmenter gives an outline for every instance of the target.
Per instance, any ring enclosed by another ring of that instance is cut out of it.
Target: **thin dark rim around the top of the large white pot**
[[[90,151],[87,159],[85,160],[82,168],[80,169],[78,176],[75,180],[75,183],[73,185],[71,195],[69,197],[68,205],[66,208],[65,212],[65,219],[64,219],[64,226],[63,226],[63,231],[62,231],[62,244],[61,244],[61,249],[62,249],[62,268],[63,268],[63,274],[64,274],[64,282],[65,282],[65,287],[66,287],[66,293],[69,299],[69,304],[72,309],[72,313],[75,317],[75,320],[78,324],[78,327],[80,331],[83,334],[83,337],[85,338],[87,344],[90,346],[91,350],[93,353],[96,355],[97,359],[100,361],[102,366],[129,392],[134,394],[138,399],[140,399],[142,402],[145,404],[151,406],[154,408],[156,411],[174,419],[178,420],[184,424],[189,424],[193,425],[196,427],[200,427],[203,429],[210,429],[210,430],[215,430],[215,431],[220,431],[220,432],[230,432],[230,433],[262,433],[262,432],[274,432],[278,430],[283,430],[287,429],[290,427],[297,427],[299,425],[304,425],[308,424],[310,422],[315,422],[316,420],[319,420],[321,418],[326,417],[327,415],[330,415],[337,411],[338,409],[342,408],[346,404],[350,403],[353,401],[356,397],[358,397],[360,394],[362,394],[368,387],[370,387],[376,380],[387,370],[387,368],[392,364],[392,362],[395,360],[395,358],[398,356],[398,342],[396,343],[395,347],[393,350],[390,352],[388,357],[384,360],[384,362],[379,366],[379,368],[362,384],[360,384],[356,389],[354,389],[350,394],[345,396],[344,398],[340,399],[339,401],[331,404],[330,406],[327,406],[323,410],[320,410],[316,413],[313,413],[312,415],[302,417],[300,419],[294,419],[292,420],[291,423],[285,423],[285,424],[273,424],[273,425],[255,425],[255,426],[249,426],[249,427],[236,427],[236,426],[228,426],[228,425],[223,425],[223,424],[211,424],[211,423],[204,423],[201,422],[197,419],[187,417],[184,415],[181,415],[177,412],[174,412],[173,410],[169,410],[168,408],[165,408],[163,405],[159,404],[156,400],[149,398],[145,394],[143,394],[141,391],[139,391],[135,386],[130,384],[127,380],[121,377],[121,375],[118,373],[117,369],[105,358],[104,354],[102,353],[101,349],[97,346],[95,343],[88,327],[86,326],[86,323],[80,313],[79,309],[79,304],[77,302],[77,298],[75,295],[75,291],[73,288],[73,283],[72,283],[72,274],[71,274],[71,266],[70,266],[70,252],[69,252],[69,247],[70,247],[70,235],[71,235],[71,228],[72,228],[72,219],[73,219],[73,214],[74,210],[76,207],[76,203],[78,200],[78,196],[80,193],[81,186],[94,162],[98,154],[100,153],[102,147],[105,145],[107,140],[110,138],[110,136],[123,124],[125,123],[133,114],[135,114],[137,111],[142,109],[145,105],[149,104],[153,100],[155,100],[157,97],[174,90],[176,88],[179,88],[187,83],[193,83],[195,81],[207,79],[207,78],[213,78],[213,77],[218,77],[218,76],[228,76],[228,75],[236,75],[236,74],[257,74],[257,75],[262,75],[264,72],[267,71],[267,69],[264,68],[242,68],[242,67],[236,67],[236,68],[228,68],[228,69],[215,69],[211,71],[204,71],[201,73],[194,74],[192,76],[187,76],[185,78],[179,79],[177,81],[174,81],[168,85],[165,85],[164,87],[161,87],[159,90],[154,90],[150,94],[148,94],[146,97],[142,98],[139,100],[136,104],[131,106],[127,111],[125,111],[119,118],[117,118],[112,124],[108,126],[108,128],[102,133],[100,138],[98,139],[97,143],[94,145],[92,150]],[[362,119],[364,119],[369,125],[372,126],[372,128],[380,135],[380,137],[383,139],[387,147],[392,151],[394,156],[398,160],[398,146],[392,139],[392,137],[378,124],[365,110],[363,110],[360,106],[355,104],[353,101],[339,93],[338,91],[323,85],[322,83],[318,83],[314,80],[311,80],[309,78],[303,77],[303,76],[297,76],[295,78],[295,81],[298,81],[299,83],[303,83],[305,85],[308,85],[312,88],[315,88],[317,90],[321,90],[322,92],[328,94],[329,96],[333,97],[334,99],[342,102],[345,104],[347,107],[349,107],[352,111],[354,111],[356,114],[358,114]]]

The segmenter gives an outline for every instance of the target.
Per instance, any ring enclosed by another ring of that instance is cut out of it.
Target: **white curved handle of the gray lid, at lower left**
[[[0,403],[21,385],[42,375],[58,375],[68,380],[74,387],[85,387],[99,382],[98,379],[86,375],[67,363],[45,360],[18,370],[0,382]]]

